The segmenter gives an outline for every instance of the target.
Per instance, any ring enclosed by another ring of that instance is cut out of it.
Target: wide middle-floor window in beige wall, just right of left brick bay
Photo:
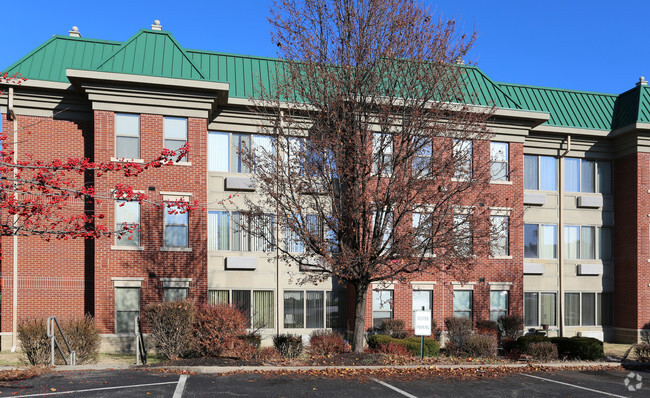
[[[209,211],[208,250],[269,252],[274,244],[274,220],[272,214],[248,217],[238,212]]]

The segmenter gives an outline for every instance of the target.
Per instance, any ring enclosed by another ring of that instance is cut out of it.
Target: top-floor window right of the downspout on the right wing
[[[612,165],[607,161],[566,158],[565,184],[567,192],[599,192],[609,194],[612,189]]]

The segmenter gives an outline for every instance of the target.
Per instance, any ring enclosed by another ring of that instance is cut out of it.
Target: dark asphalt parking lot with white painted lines
[[[626,382],[627,379],[627,382]],[[647,397],[650,372],[557,370],[456,380],[273,374],[178,375],[142,370],[55,372],[0,383],[0,397]]]

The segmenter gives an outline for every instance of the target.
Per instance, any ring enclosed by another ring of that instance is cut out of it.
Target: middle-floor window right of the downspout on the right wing
[[[609,261],[612,258],[611,228],[565,225],[564,248],[568,260]]]

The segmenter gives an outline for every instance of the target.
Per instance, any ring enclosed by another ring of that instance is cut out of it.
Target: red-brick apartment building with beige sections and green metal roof
[[[296,284],[288,264],[237,231],[239,213],[222,204],[236,193],[236,208],[254,194],[236,154],[242,143],[268,139],[257,135],[248,106],[275,62],[185,49],[152,25],[123,43],[73,30],[5,69],[29,79],[0,97],[4,133],[9,140],[22,134],[19,158],[147,160],[188,141],[185,161],[126,182],[154,199],[188,198],[205,209],[169,216],[104,203],[98,211],[106,225],[132,222],[142,231],[119,240],[3,237],[2,349],[15,344],[14,315],[85,313],[95,316],[105,350],[123,349],[145,305],[185,297],[250,308],[251,326],[266,336],[349,329],[353,306],[344,286]],[[517,314],[526,328],[550,334],[636,340],[650,321],[646,82],[612,95],[496,83],[475,67],[466,71],[474,105],[496,106],[493,139],[473,143],[475,153],[489,151],[510,170],[491,186],[503,204],[494,216],[523,216],[523,225],[503,233],[505,249],[481,259],[469,281],[441,274],[373,286],[367,326],[385,318],[410,325],[413,309],[425,306],[439,325],[452,315]],[[110,190],[115,178],[97,179],[97,191]]]

